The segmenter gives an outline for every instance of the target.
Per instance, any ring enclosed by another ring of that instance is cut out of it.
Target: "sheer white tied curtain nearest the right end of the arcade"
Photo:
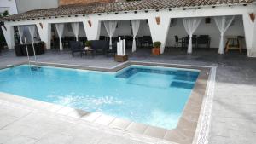
[[[214,21],[220,32],[220,41],[218,46],[218,54],[224,54],[224,32],[228,30],[235,16],[218,16],[214,17]]]

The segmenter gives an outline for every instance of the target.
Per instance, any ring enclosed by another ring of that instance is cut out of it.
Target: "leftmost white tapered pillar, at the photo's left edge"
[[[15,33],[14,26],[1,26],[3,36],[9,49],[15,48]]]

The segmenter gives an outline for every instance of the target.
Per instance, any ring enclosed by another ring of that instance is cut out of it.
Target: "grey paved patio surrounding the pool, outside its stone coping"
[[[253,144],[256,141],[256,59],[247,58],[245,54],[237,52],[230,52],[225,55],[218,55],[217,51],[194,51],[193,55],[187,55],[185,51],[166,50],[164,55],[152,56],[150,50],[138,50],[137,53],[130,55],[130,60],[148,61],[148,62],[163,62],[171,64],[185,64],[185,65],[200,65],[211,66],[217,64],[217,79],[214,91],[214,101],[212,107],[212,121],[210,130],[210,144]],[[0,67],[6,65],[13,65],[26,61],[26,57],[15,57],[14,51],[3,52],[0,54]],[[45,55],[39,55],[38,61],[50,63],[63,63],[81,66],[101,66],[113,67],[118,65],[111,57],[98,55],[95,58],[86,56],[83,58],[72,57],[69,52],[48,51]],[[23,113],[23,114],[22,114]],[[44,120],[49,116],[41,116],[40,113],[27,112],[26,109],[15,107],[0,108],[0,143],[18,143],[16,141],[27,141],[21,143],[75,143],[74,137],[67,135],[60,135],[54,131],[45,131],[47,129],[40,129],[38,133],[44,133],[44,139],[29,138],[17,134],[13,130],[19,131],[19,124],[26,124],[28,126],[44,125]],[[38,118],[37,123],[29,120],[31,117]],[[53,120],[55,124],[62,124],[59,117],[56,116]],[[21,121],[21,122],[20,122]],[[65,122],[63,125],[72,125],[71,122]],[[75,124],[76,125],[76,124]],[[91,136],[90,129],[84,126],[75,126],[77,129],[82,129],[79,135],[84,133],[83,141],[91,141],[91,143],[143,143],[139,140],[129,139],[123,135],[113,135],[106,131],[96,130],[97,136]],[[50,126],[49,126],[50,127]],[[46,127],[46,128],[49,128]],[[61,126],[59,127],[61,128]],[[59,128],[53,127],[55,130]],[[5,131],[5,130],[9,131]],[[28,129],[28,128],[27,128]],[[11,130],[11,131],[10,131]],[[50,130],[50,128],[49,128]],[[39,132],[40,131],[40,132]],[[14,136],[15,134],[19,136]],[[86,134],[90,136],[86,136]],[[30,135],[33,135],[30,134]],[[43,135],[43,134],[42,134]],[[99,135],[99,136],[98,136]],[[86,137],[88,139],[86,139]],[[93,138],[92,138],[93,137]],[[68,140],[66,140],[66,138]],[[109,139],[108,139],[109,138]],[[113,138],[113,139],[112,139]],[[108,141],[105,141],[108,140]],[[113,141],[110,141],[113,140]],[[145,141],[145,143],[156,143],[155,141]],[[79,142],[77,142],[79,143]]]

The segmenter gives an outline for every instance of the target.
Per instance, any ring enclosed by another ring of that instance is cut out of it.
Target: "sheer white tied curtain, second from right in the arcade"
[[[183,25],[186,32],[189,34],[189,46],[188,53],[192,53],[192,36],[199,24],[201,23],[201,18],[184,18]]]

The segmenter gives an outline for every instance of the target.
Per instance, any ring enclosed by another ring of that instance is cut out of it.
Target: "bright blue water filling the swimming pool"
[[[23,65],[0,70],[0,91],[173,129],[198,74],[157,66],[111,73]]]

